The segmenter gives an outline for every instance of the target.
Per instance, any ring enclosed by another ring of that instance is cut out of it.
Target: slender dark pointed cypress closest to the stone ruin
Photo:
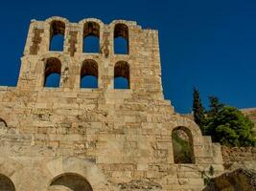
[[[195,122],[198,124],[198,126],[202,132],[202,135],[205,135],[205,133],[206,133],[205,110],[201,103],[199,91],[196,88],[194,88],[194,93],[193,93],[193,116],[194,116]]]

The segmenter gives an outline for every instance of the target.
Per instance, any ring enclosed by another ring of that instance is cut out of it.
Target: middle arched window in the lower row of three
[[[84,60],[81,65],[81,88],[98,88],[98,64],[94,60]]]

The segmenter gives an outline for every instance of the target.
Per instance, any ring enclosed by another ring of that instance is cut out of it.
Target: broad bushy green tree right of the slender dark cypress
[[[218,99],[217,99],[218,100]],[[215,103],[220,103],[219,100]],[[219,104],[215,104],[218,106]],[[207,134],[227,146],[255,146],[253,122],[235,107],[211,107],[207,117]]]

